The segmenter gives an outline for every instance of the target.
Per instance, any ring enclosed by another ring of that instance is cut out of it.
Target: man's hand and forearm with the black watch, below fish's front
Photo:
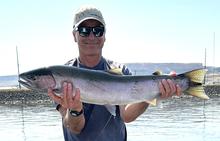
[[[75,88],[72,83],[63,83],[63,93],[58,96],[52,89],[48,89],[49,97],[56,103],[60,104],[59,112],[63,117],[63,124],[66,128],[69,128],[75,134],[79,134],[83,127],[85,126],[85,117],[80,115],[78,117],[73,117],[70,115],[68,109],[74,111],[81,111],[83,106],[80,101],[80,91]]]

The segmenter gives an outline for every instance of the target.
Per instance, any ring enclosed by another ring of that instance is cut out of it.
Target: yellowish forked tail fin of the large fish
[[[190,80],[190,87],[185,92],[202,99],[209,99],[203,87],[206,72],[206,69],[197,69],[185,73]]]

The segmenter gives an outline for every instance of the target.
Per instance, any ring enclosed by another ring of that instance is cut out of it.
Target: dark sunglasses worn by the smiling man
[[[96,37],[102,37],[102,35],[105,32],[105,28],[103,26],[97,26],[97,27],[77,27],[76,29],[77,31],[79,31],[79,35],[82,37],[88,37],[89,34],[93,33],[93,35],[95,35]]]

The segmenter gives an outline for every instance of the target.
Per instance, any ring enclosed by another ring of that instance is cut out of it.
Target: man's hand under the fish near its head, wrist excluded
[[[80,91],[73,87],[72,83],[63,82],[63,93],[58,96],[52,89],[48,89],[48,96],[63,108],[82,110],[82,102],[80,101]]]

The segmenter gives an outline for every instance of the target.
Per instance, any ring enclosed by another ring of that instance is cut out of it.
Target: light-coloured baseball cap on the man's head
[[[84,5],[75,13],[73,29],[78,27],[83,21],[94,19],[105,26],[105,21],[99,9],[92,5]]]

